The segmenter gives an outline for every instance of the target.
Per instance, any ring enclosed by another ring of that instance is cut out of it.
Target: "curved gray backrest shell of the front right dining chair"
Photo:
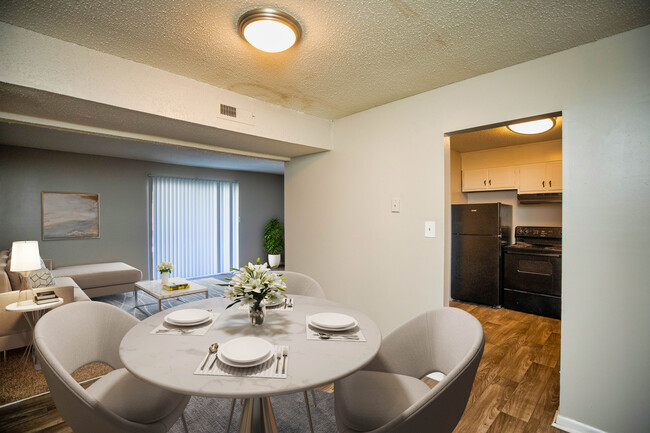
[[[432,372],[445,376],[401,414],[368,431],[451,433],[467,405],[484,345],[480,322],[458,308],[428,311],[389,333],[375,359],[364,367],[364,372],[385,372],[417,379]],[[335,392],[336,386],[338,384]],[[391,398],[390,395],[385,397]],[[343,404],[354,405],[354,402],[337,401],[337,425],[339,431],[352,431],[339,419]],[[354,410],[354,407],[349,409]]]

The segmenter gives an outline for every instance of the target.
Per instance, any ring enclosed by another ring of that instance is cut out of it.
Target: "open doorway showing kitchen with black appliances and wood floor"
[[[537,134],[512,126],[542,119],[551,128]],[[548,430],[560,388],[562,113],[447,133],[445,169],[444,302],[474,315],[489,343],[464,427]]]

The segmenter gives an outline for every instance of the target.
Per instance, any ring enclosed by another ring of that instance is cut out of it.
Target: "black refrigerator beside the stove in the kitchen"
[[[503,247],[510,244],[512,206],[451,206],[451,298],[500,307]]]

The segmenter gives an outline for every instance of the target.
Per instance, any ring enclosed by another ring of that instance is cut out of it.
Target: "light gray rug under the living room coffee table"
[[[219,284],[225,284],[226,281],[222,279],[209,277],[192,281],[207,287],[209,298],[220,298],[223,296],[225,287],[220,286]],[[165,299],[162,302],[162,307],[163,310],[165,310],[167,308],[176,307],[178,305],[186,304],[189,302],[200,301],[203,299],[205,299],[205,294],[203,293],[181,296],[179,298]],[[140,308],[135,308],[135,298],[133,297],[133,292],[99,296],[97,298],[93,298],[93,301],[106,302],[107,304],[115,305],[116,307],[121,308],[127,313],[135,316],[139,320],[146,319],[147,317],[158,313],[158,300],[153,296],[150,296],[147,293],[143,292],[142,290],[138,291],[138,305],[140,305]]]

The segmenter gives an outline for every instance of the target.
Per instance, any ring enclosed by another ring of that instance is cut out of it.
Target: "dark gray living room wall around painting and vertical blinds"
[[[38,240],[54,267],[120,261],[148,275],[148,176],[239,182],[240,264],[266,257],[264,225],[284,220],[284,176],[0,145],[0,249]],[[100,196],[100,238],[43,241],[41,192]]]

